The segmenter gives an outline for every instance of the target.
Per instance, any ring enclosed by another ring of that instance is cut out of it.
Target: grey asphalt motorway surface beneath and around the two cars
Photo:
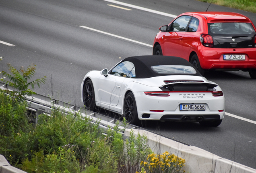
[[[209,6],[194,0],[122,1],[173,15],[205,11]],[[208,11],[239,12],[256,24],[256,15],[250,12],[214,4]],[[36,93],[82,107],[80,84],[87,72],[110,69],[129,56],[151,55],[158,28],[171,20],[169,16],[104,0],[0,0],[0,41],[15,45],[0,44],[0,56],[4,57],[0,70],[8,70],[6,63],[19,69],[33,62],[37,65],[34,79],[47,76],[47,83],[36,88]],[[256,80],[248,72],[205,76],[223,89],[227,113],[256,121]],[[256,169],[254,123],[226,115],[219,127],[169,122],[148,122],[145,127]]]

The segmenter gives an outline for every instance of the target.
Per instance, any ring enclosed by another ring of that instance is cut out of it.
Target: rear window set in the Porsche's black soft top
[[[151,68],[159,74],[196,74],[196,70],[192,66],[183,65],[158,65]]]

